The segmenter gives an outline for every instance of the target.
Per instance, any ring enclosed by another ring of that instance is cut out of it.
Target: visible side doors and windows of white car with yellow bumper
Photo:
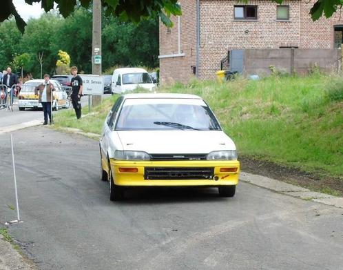
[[[105,160],[107,160],[107,151],[110,147],[110,133],[113,131],[114,123],[116,122],[116,117],[118,115],[118,110],[119,108],[121,108],[123,99],[124,97],[118,97],[118,99],[112,106],[112,110],[107,115],[105,123],[103,125],[103,132],[100,138],[101,159],[103,161],[103,164],[105,163]]]

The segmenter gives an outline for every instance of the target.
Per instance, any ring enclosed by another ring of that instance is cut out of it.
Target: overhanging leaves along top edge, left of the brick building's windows
[[[41,2],[41,7],[45,12],[54,8],[54,3],[57,3],[57,8],[63,17],[69,16],[76,6],[76,0],[25,0],[25,2],[29,4]],[[81,6],[88,8],[92,0],[80,0],[79,2]],[[177,2],[178,0],[104,0],[101,1],[101,4],[106,15],[114,15],[123,21],[138,23],[142,19],[160,17],[165,25],[172,26],[170,15],[181,15],[181,8]],[[11,15],[14,16],[19,30],[23,33],[26,23],[15,9],[13,0],[1,1],[0,22],[8,19]]]

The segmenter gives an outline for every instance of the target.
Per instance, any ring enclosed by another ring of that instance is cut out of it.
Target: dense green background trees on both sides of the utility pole
[[[133,24],[103,17],[102,39],[102,67],[107,74],[112,74],[110,67],[115,66],[145,66],[147,70],[158,66],[157,19]],[[70,56],[66,66],[56,66],[61,61],[59,50]],[[24,75],[32,73],[33,77],[40,77],[38,55],[42,53],[43,73],[68,73],[69,66],[77,66],[82,73],[92,73],[92,12],[78,8],[67,19],[51,12],[44,14],[28,21],[24,35],[17,30],[14,20],[0,24],[1,70],[12,66],[14,72],[19,71],[18,60],[22,61],[21,55],[25,54],[29,61],[23,66]]]

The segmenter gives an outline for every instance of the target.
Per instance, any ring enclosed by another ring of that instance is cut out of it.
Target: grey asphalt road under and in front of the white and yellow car
[[[21,224],[39,269],[342,269],[343,209],[241,182],[130,191],[111,202],[98,142],[37,126],[14,132]],[[0,222],[16,219],[8,134],[0,135]]]

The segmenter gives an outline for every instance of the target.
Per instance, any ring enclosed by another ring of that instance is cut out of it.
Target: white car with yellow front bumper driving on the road
[[[196,95],[118,97],[100,139],[101,180],[110,200],[135,186],[211,186],[236,192],[236,146],[206,102]]]

